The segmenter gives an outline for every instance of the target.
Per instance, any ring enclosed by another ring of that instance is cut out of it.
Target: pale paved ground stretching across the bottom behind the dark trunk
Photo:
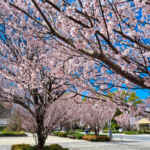
[[[10,150],[12,144],[34,144],[29,137],[0,137],[0,150]],[[70,150],[150,150],[150,135],[114,135],[112,142],[88,142],[49,136],[46,144],[58,143]]]

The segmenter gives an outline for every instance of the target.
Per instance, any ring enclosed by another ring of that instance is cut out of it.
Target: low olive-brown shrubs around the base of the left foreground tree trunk
[[[30,146],[29,144],[18,144],[13,145],[11,150],[36,150],[36,146]],[[68,148],[63,148],[58,144],[52,144],[50,146],[45,146],[44,150],[68,150]]]

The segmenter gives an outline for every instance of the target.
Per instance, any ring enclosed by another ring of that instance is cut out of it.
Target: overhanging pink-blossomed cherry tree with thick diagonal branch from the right
[[[148,0],[7,0],[1,14],[10,33],[14,26],[40,39],[49,36],[59,49],[95,63],[97,86],[150,89]]]

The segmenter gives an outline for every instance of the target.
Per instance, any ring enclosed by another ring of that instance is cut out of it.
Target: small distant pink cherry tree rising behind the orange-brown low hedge
[[[99,131],[113,118],[116,108],[117,105],[110,100],[83,102],[79,109],[80,121],[94,130],[95,135],[99,135]]]

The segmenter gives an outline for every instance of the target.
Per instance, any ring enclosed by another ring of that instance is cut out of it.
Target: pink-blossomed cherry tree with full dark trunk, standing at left
[[[13,39],[6,31],[0,42],[0,101],[20,112],[23,128],[37,134],[37,149],[43,150],[48,134],[66,119],[57,100],[67,90],[69,76],[62,53],[54,54],[44,40],[16,32]]]

